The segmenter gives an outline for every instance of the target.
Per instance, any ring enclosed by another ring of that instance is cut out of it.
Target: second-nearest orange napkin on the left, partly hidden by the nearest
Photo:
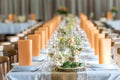
[[[40,36],[38,34],[28,35],[28,39],[32,40],[32,56],[40,55]]]

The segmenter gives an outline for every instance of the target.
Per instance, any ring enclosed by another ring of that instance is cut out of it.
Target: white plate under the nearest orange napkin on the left
[[[35,71],[39,69],[42,65],[42,62],[32,62],[31,66],[19,66],[19,63],[13,63],[13,71]]]

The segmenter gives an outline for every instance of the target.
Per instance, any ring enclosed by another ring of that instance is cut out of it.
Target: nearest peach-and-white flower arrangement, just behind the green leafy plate
[[[82,37],[80,36],[73,36],[73,37],[60,37],[59,39],[59,46],[64,49],[69,49],[69,60],[74,61],[76,60],[76,55],[82,50]]]

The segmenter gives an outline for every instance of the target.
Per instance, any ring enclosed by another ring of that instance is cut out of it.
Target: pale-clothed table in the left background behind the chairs
[[[34,25],[35,23],[36,22],[0,23],[0,34],[16,34]]]

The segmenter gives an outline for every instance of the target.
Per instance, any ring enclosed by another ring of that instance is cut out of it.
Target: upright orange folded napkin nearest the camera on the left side
[[[32,65],[32,40],[18,41],[18,57],[20,66]]]

